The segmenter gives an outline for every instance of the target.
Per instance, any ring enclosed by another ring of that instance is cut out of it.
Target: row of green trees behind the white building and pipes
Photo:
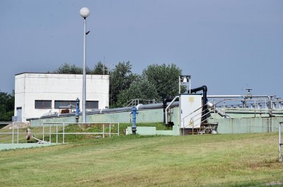
[[[66,63],[54,70],[59,74],[82,72],[81,67]],[[130,62],[119,62],[111,70],[102,62],[98,62],[93,69],[86,67],[86,74],[110,75],[110,108],[122,107],[134,98],[161,101],[175,96],[178,94],[178,77],[181,73],[182,70],[175,64],[151,64],[142,74],[134,74]],[[185,91],[185,86],[182,86],[182,91]]]

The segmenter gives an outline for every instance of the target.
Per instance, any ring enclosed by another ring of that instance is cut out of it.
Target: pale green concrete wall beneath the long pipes
[[[130,111],[121,113],[105,113],[96,115],[86,115],[89,123],[129,123]],[[180,135],[180,119],[178,108],[173,109],[172,120],[173,130],[156,130],[156,128],[139,128],[139,123],[163,123],[163,109],[139,111],[137,115],[137,134],[141,135]],[[64,118],[47,118],[32,120],[31,125],[36,126],[40,123],[75,123],[75,116]],[[81,121],[81,118],[80,118]],[[279,122],[283,121],[282,116],[273,118],[235,118],[209,119],[209,123],[218,123],[217,132],[219,134],[232,133],[257,133],[257,132],[277,132]],[[132,133],[131,128],[128,128]]]

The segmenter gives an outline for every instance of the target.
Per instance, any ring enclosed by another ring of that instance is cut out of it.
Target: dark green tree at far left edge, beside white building
[[[12,121],[15,105],[15,94],[0,92],[0,121]]]

